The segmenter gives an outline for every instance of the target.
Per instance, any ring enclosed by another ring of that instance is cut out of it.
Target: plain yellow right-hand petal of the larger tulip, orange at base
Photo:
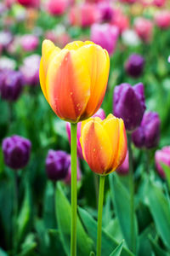
[[[110,69],[110,58],[105,49],[96,44],[87,44],[77,50],[88,64],[91,78],[90,99],[83,116],[92,116],[100,107],[105,96]],[[82,116],[82,119],[83,119]]]

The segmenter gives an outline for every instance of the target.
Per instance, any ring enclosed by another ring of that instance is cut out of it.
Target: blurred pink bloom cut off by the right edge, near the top
[[[155,16],[156,25],[160,28],[167,29],[170,27],[170,11],[162,10]]]

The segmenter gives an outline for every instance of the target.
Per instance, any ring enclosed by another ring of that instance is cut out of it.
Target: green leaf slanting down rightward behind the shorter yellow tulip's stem
[[[79,207],[78,210],[80,217],[82,218],[82,223],[84,224],[88,235],[93,239],[96,247],[97,243],[97,222],[92,218],[88,212]],[[105,230],[102,230],[102,247],[101,255],[108,256],[113,250],[119,245],[119,243],[110,236]],[[133,256],[127,248],[122,248],[122,256]]]

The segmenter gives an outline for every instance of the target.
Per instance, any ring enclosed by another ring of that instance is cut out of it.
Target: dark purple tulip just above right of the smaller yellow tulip
[[[114,90],[114,114],[122,118],[127,131],[134,131],[140,125],[144,110],[144,85],[120,84]]]

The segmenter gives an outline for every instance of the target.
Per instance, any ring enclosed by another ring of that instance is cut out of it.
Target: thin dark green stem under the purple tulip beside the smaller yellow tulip
[[[127,134],[127,148],[129,161],[129,190],[130,190],[130,232],[131,232],[131,247],[132,252],[135,250],[134,240],[134,183],[133,183],[133,151],[132,151],[132,137]]]

